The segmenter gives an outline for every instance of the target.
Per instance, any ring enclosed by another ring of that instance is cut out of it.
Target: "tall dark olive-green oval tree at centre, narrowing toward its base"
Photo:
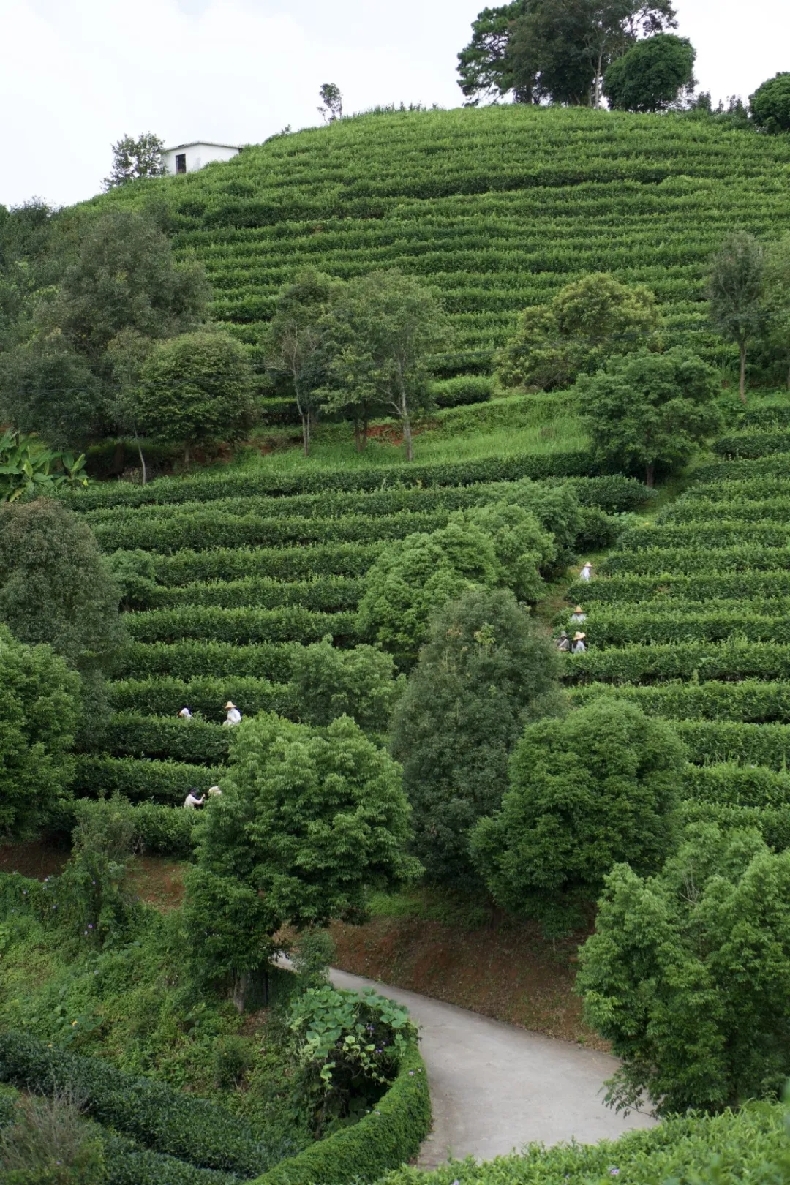
[[[468,589],[431,619],[396,710],[392,752],[415,811],[415,851],[432,880],[477,883],[469,833],[500,806],[525,723],[560,710],[558,665],[509,591]]]

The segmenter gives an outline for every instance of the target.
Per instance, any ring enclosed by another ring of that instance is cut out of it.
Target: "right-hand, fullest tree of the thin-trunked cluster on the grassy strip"
[[[392,412],[413,460],[411,417],[431,401],[428,359],[449,338],[449,322],[433,293],[399,271],[373,271],[339,289],[328,312],[332,340],[332,411],[366,422],[372,404]]]

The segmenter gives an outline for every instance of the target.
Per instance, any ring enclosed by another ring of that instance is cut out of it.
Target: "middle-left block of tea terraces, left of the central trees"
[[[134,801],[175,803],[190,787],[206,789],[227,755],[226,700],[243,715],[271,710],[298,719],[289,684],[297,648],[327,635],[336,646],[358,641],[361,579],[386,540],[444,526],[452,511],[501,497],[507,482],[539,478],[539,493],[587,466],[583,454],[567,453],[407,473],[380,467],[289,478],[262,467],[144,488],[95,486],[73,497],[105,552],[140,549],[155,569],[155,583],[136,592],[127,616],[133,641],[110,685],[105,751],[79,758],[77,793],[120,790]],[[606,514],[647,497],[631,479],[567,480],[583,505]],[[591,530],[602,524],[605,517],[593,515]],[[184,706],[194,719],[178,718]]]

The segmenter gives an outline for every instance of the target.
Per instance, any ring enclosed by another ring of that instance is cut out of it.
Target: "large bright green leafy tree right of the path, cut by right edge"
[[[647,879],[617,865],[580,952],[618,1108],[660,1115],[778,1095],[790,1069],[790,851],[698,825]]]

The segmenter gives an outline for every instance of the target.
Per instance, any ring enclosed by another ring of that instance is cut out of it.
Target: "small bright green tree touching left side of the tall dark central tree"
[[[365,732],[386,732],[403,679],[396,678],[390,654],[373,646],[341,651],[332,638],[300,647],[290,684],[303,724],[327,725],[349,716]]]

